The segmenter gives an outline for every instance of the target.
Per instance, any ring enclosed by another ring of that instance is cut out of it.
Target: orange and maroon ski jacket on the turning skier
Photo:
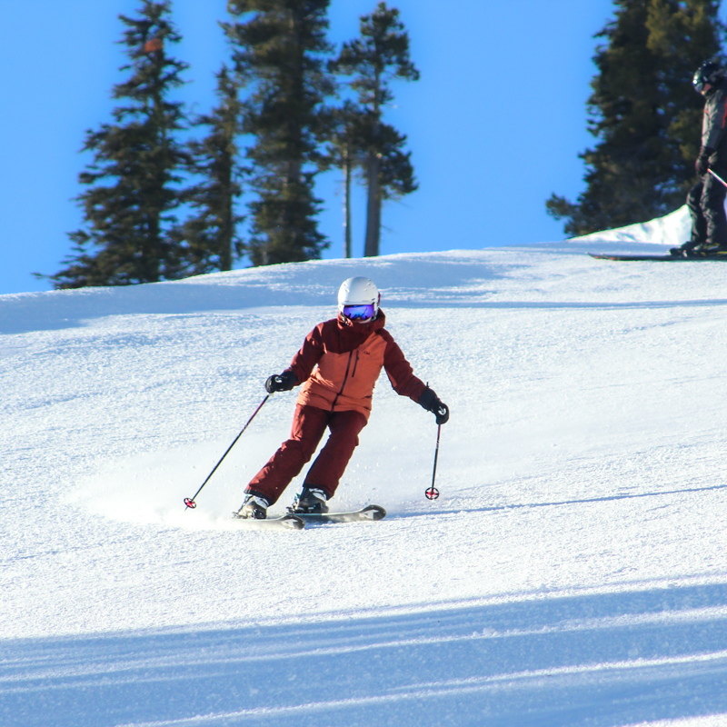
[[[289,368],[303,383],[297,403],[330,412],[360,412],[368,421],[382,368],[396,393],[418,402],[426,387],[383,328],[385,323],[379,309],[368,324],[352,324],[339,316],[315,326]]]

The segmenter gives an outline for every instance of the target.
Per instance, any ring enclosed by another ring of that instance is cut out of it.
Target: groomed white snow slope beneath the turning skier
[[[727,265],[584,254],[687,227],[0,296],[0,723],[727,724]],[[294,393],[186,511],[354,274],[442,497],[383,377],[334,500],[381,523],[230,518]]]

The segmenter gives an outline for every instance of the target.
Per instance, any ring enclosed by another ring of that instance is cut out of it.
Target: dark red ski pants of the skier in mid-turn
[[[326,412],[315,406],[296,406],[290,439],[281,444],[245,492],[262,494],[270,504],[276,502],[304,464],[310,462],[328,427],[331,434],[305,475],[305,485],[333,497],[365,425],[366,417],[360,412]]]

